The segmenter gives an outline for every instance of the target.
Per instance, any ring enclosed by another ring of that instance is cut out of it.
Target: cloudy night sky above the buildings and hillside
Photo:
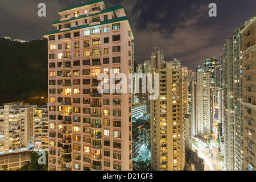
[[[88,2],[89,0],[83,0]],[[46,3],[46,17],[38,16],[38,4]],[[0,37],[37,40],[51,31],[57,11],[81,0],[1,0]],[[125,7],[135,36],[135,61],[150,59],[155,47],[164,60],[180,59],[195,71],[212,56],[220,57],[233,30],[256,14],[255,0],[105,0],[108,7]],[[216,3],[217,17],[209,17],[209,3]]]

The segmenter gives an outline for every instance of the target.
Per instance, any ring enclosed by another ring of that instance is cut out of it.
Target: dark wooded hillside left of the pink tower
[[[47,102],[46,39],[19,43],[0,38],[0,64],[0,105],[20,100],[31,105]]]

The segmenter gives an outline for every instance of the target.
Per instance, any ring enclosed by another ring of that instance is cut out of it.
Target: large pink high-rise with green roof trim
[[[49,53],[49,170],[131,170],[131,94],[99,93],[100,73],[129,78],[134,39],[122,6],[58,11]],[[104,78],[104,83],[113,84]],[[114,84],[117,84],[115,80]]]

